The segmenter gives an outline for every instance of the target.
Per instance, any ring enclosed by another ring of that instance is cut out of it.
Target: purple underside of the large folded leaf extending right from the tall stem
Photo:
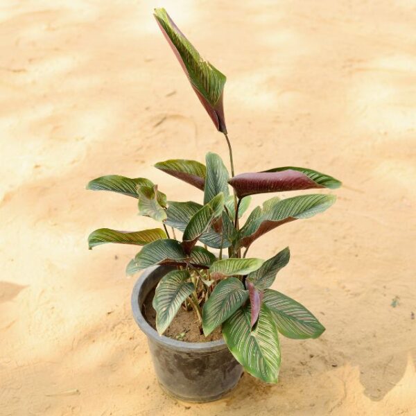
[[[281,172],[241,173],[232,177],[228,183],[236,190],[239,198],[255,193],[324,188],[304,173],[292,169]]]

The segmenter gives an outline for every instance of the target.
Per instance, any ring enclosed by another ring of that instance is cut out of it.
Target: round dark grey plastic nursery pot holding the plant
[[[243,367],[229,352],[223,339],[209,343],[185,343],[161,336],[146,321],[142,306],[150,291],[167,272],[168,266],[144,270],[133,288],[135,321],[148,338],[159,384],[166,392],[184,401],[219,399],[239,382]]]

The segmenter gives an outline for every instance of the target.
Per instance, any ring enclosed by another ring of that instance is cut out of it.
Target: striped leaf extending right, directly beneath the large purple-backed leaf
[[[239,245],[248,247],[254,240],[266,232],[291,221],[310,218],[315,214],[325,211],[336,200],[333,195],[321,195],[313,193],[310,195],[295,196],[285,200],[272,198],[263,204],[263,209],[257,207],[240,230]]]

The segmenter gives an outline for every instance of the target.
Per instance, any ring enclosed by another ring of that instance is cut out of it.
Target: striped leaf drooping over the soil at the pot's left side
[[[187,270],[173,270],[159,281],[153,297],[156,329],[159,335],[162,335],[171,324],[182,302],[195,291],[193,283],[187,281],[190,277]]]

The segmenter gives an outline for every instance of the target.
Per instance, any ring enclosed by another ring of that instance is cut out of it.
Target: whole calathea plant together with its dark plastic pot
[[[159,383],[180,399],[209,401],[231,390],[243,368],[266,383],[277,383],[279,333],[303,339],[324,331],[304,306],[270,288],[289,261],[289,249],[266,260],[248,257],[248,250],[266,232],[325,211],[335,196],[274,196],[242,224],[250,196],[335,189],[340,182],[293,166],[235,175],[223,111],[225,76],[200,57],[166,10],[156,9],[155,18],[216,129],[225,136],[231,175],[216,153],[208,153],[205,164],[188,159],[155,164],[200,189],[199,202],[167,201],[159,187],[143,177],[92,180],[87,189],[135,198],[139,214],[162,227],[137,232],[96,229],[89,235],[89,248],[103,243],[143,246],[127,272],[144,270],[132,293],[132,309],[148,337]]]

